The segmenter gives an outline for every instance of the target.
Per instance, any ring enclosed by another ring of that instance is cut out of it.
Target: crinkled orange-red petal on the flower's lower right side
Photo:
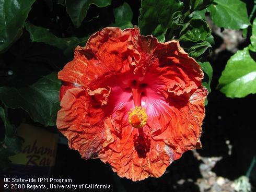
[[[153,139],[162,140],[172,146],[175,151],[174,160],[179,159],[185,151],[201,148],[199,138],[202,133],[204,100],[207,93],[207,89],[201,87],[191,94],[170,97],[169,107],[166,107],[169,116],[161,117],[161,122],[159,118],[152,120],[167,125],[162,126],[161,132],[153,135]]]

